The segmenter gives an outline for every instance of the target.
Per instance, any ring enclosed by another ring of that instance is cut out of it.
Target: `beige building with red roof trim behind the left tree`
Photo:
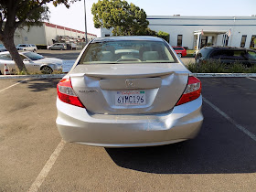
[[[94,34],[87,33],[88,41],[97,37]],[[67,43],[80,42],[85,38],[85,33],[69,27],[62,27],[51,23],[43,23],[41,27],[27,27],[16,29],[15,44],[27,43],[36,45],[52,45],[54,41],[63,38]]]

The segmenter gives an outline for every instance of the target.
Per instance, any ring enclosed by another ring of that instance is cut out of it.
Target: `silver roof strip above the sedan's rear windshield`
[[[127,41],[127,40],[144,40],[163,42],[162,38],[151,36],[119,36],[119,37],[99,37],[94,38],[91,43],[108,42],[108,41]]]

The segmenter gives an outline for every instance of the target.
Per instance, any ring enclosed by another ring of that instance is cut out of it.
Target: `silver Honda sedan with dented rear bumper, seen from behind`
[[[173,144],[203,122],[201,82],[158,37],[95,38],[57,86],[59,133],[104,147]]]

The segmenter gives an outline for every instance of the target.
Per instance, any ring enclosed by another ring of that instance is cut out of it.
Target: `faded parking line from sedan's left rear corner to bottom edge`
[[[31,187],[28,189],[28,192],[36,192],[39,189],[39,187],[44,182],[45,178],[48,176],[50,169],[55,164],[55,162],[65,144],[66,144],[66,142],[63,139],[59,142],[58,146],[56,147],[56,149],[54,150],[52,155],[50,155],[48,162],[46,163],[46,165],[44,165],[43,169],[37,176],[36,180],[31,185]]]

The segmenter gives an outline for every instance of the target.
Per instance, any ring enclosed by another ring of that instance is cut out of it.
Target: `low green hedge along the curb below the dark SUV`
[[[209,59],[206,62],[188,63],[187,69],[194,73],[255,73],[256,66],[248,68],[241,63],[226,65],[219,60]]]

